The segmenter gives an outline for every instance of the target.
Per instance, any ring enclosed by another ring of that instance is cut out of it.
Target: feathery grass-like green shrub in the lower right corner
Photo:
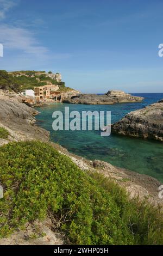
[[[160,208],[139,198],[129,199],[124,188],[99,173],[90,173],[98,185],[111,193],[126,228],[134,237],[135,245],[156,245],[163,242],[163,216]]]

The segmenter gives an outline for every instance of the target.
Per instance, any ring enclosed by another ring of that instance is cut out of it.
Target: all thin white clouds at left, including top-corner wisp
[[[0,21],[5,19],[7,12],[18,2],[19,0],[0,0]],[[0,43],[4,46],[4,58],[1,58],[1,65],[7,67],[6,69],[14,69],[16,66],[17,69],[22,69],[22,66],[29,68],[30,66],[43,66],[54,60],[71,57],[69,53],[52,52],[48,47],[42,46],[34,31],[29,30],[28,26],[23,26],[23,21],[17,20],[16,22],[12,22],[12,25],[6,22],[0,24]],[[27,23],[31,28],[40,26],[43,20],[35,19]]]

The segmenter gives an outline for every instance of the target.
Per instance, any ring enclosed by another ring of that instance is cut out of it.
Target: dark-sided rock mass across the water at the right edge
[[[163,101],[130,112],[112,125],[112,133],[163,142]]]

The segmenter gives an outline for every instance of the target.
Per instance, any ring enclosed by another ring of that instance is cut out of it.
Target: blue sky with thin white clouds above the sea
[[[83,93],[163,93],[162,0],[0,0],[0,69],[60,72]]]

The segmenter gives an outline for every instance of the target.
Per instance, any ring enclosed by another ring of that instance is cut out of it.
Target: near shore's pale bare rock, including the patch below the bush
[[[49,141],[49,132],[35,124],[34,116],[38,112],[23,102],[20,95],[0,93],[0,127],[4,127],[9,132],[8,139],[0,138],[0,145],[12,141],[34,139],[50,143],[60,154],[70,157],[84,172],[96,171],[117,182],[126,189],[131,198],[139,197],[140,200],[146,199],[154,205],[163,205],[162,200],[158,197],[158,187],[161,185],[158,180],[148,175],[112,166],[110,163],[99,160],[89,161],[69,153],[59,144]],[[1,239],[0,245],[62,245],[65,243],[64,237],[52,230],[49,219],[36,224],[39,225],[43,233],[46,233],[46,236],[28,240],[27,238],[34,233],[34,225],[27,223],[24,230],[17,230],[10,237]]]

